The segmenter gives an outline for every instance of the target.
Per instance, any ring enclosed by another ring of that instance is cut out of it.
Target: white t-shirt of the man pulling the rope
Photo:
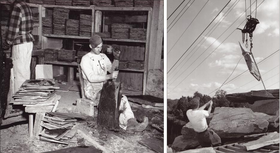
[[[209,114],[206,110],[187,110],[187,117],[194,131],[203,132],[208,128],[206,118]]]

